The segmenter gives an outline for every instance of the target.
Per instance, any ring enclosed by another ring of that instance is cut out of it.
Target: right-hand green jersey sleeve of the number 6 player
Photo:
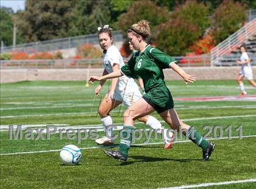
[[[166,53],[159,49],[152,48],[149,50],[149,53],[152,58],[154,58],[155,63],[157,63],[162,69],[169,68],[169,64],[171,63],[177,63],[177,60],[169,55],[166,55]]]

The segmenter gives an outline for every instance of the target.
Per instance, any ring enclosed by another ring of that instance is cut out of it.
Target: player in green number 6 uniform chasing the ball
[[[182,133],[188,136],[188,139],[202,148],[202,160],[209,160],[215,148],[215,143],[207,142],[199,132],[193,131],[190,125],[183,123],[179,119],[174,109],[171,93],[165,84],[163,69],[171,68],[183,78],[186,84],[196,81],[196,77],[187,74],[181,69],[176,64],[177,61],[174,58],[166,55],[159,49],[151,47],[146,42],[146,38],[150,34],[148,21],[142,20],[137,22],[137,24],[133,24],[127,31],[127,36],[129,43],[138,52],[134,53],[132,58],[120,70],[102,77],[90,77],[90,81],[93,82],[121,77],[122,75],[127,75],[127,77],[139,75],[143,79],[146,91],[146,94],[140,100],[136,101],[124,112],[123,139],[121,139],[119,150],[105,150],[105,154],[126,162],[130,143],[132,142],[134,120],[157,111],[172,129],[177,129],[178,131],[181,129]]]

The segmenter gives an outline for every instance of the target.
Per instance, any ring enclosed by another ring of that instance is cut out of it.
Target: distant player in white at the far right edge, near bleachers
[[[241,45],[240,50],[241,50],[242,55],[240,57],[240,60],[237,61],[237,63],[241,65],[241,71],[240,71],[238,77],[236,78],[236,81],[240,85],[240,89],[241,89],[240,97],[243,97],[244,95],[247,94],[246,90],[244,89],[243,78],[244,77],[247,78],[249,83],[252,86],[254,86],[254,88],[256,88],[256,83],[253,80],[252,68],[251,68],[251,64],[250,64],[251,60],[247,55],[246,46]]]

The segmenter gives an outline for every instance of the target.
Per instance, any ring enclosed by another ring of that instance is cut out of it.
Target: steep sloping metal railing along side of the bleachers
[[[219,58],[221,58],[222,55],[229,55],[233,50],[244,43],[244,41],[254,35],[256,35],[256,18],[248,22],[211,50],[211,66],[219,64]]]

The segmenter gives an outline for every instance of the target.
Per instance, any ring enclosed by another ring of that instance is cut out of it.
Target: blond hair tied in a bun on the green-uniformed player
[[[136,24],[132,24],[127,33],[133,32],[135,35],[141,35],[144,39],[149,38],[151,35],[149,21],[145,19],[138,21]]]

